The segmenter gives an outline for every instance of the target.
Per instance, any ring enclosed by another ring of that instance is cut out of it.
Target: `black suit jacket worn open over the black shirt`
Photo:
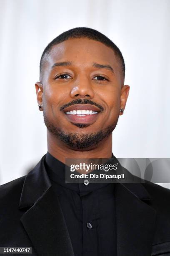
[[[0,247],[74,256],[44,160],[45,155],[28,175],[0,186]],[[170,255],[170,190],[150,182],[117,183],[115,200],[117,256]]]

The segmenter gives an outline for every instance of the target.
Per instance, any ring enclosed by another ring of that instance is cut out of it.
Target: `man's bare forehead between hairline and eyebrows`
[[[116,69],[118,67],[115,53],[110,47],[87,38],[69,39],[52,46],[45,66],[52,67],[57,61],[72,61],[74,65],[81,66],[88,66],[92,62],[97,62],[110,64]]]

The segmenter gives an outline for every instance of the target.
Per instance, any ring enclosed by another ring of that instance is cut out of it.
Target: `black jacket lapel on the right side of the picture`
[[[148,197],[148,198],[147,198]],[[117,256],[150,256],[155,229],[155,210],[142,184],[116,184]]]

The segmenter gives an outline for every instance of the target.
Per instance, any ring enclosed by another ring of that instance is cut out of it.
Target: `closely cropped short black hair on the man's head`
[[[59,36],[54,38],[50,42],[50,44],[46,46],[45,50],[42,53],[42,56],[40,59],[40,73],[42,71],[43,62],[46,59],[46,56],[50,53],[52,46],[55,46],[57,44],[62,43],[63,41],[66,41],[72,38],[88,38],[91,40],[99,41],[102,44],[105,44],[106,46],[110,47],[114,51],[115,55],[117,56],[120,62],[120,67],[122,69],[123,78],[125,77],[125,61],[123,59],[120,49],[107,36],[105,36],[104,34],[100,33],[95,29],[87,28],[87,27],[72,28],[70,30],[67,30],[61,33]]]

